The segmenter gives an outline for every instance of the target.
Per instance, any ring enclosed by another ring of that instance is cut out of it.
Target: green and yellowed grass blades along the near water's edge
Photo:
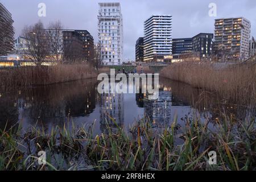
[[[129,132],[114,119],[105,133],[94,135],[94,125],[76,127],[67,122],[47,131],[22,125],[0,131],[1,170],[255,170],[255,118],[234,121],[224,115],[217,131],[197,117],[185,118],[156,130],[149,119],[130,126]],[[112,127],[110,127],[112,126]],[[178,130],[181,130],[179,134]],[[177,139],[183,142],[177,144]],[[46,151],[47,164],[38,164]],[[217,165],[208,164],[208,152],[217,152]]]

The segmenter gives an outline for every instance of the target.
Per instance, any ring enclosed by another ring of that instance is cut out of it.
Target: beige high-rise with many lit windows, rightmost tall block
[[[214,51],[229,54],[228,57],[246,60],[249,57],[250,28],[249,20],[226,18],[215,20]]]

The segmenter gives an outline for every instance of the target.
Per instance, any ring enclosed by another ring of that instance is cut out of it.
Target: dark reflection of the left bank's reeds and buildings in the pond
[[[11,123],[19,120],[29,125],[40,122],[46,126],[67,121],[68,116],[84,117],[96,107],[95,89],[96,81],[87,80],[27,88],[3,95],[0,98],[0,125],[7,120]]]

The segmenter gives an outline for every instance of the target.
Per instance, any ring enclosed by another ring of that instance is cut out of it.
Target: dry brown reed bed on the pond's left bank
[[[97,74],[89,64],[19,67],[0,71],[0,89],[6,91],[20,86],[48,85],[93,77],[97,77]]]

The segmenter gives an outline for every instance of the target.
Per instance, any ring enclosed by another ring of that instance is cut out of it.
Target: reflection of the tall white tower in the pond
[[[107,123],[113,128],[116,127],[115,123],[121,127],[123,119],[123,94],[101,94],[100,123],[102,133],[104,133]]]

